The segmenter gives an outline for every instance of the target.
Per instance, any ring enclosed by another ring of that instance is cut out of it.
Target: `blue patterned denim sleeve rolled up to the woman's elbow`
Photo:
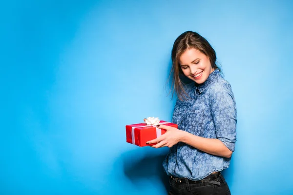
[[[232,152],[235,150],[237,111],[236,103],[228,86],[216,86],[210,99],[211,117],[214,122],[216,137]]]

